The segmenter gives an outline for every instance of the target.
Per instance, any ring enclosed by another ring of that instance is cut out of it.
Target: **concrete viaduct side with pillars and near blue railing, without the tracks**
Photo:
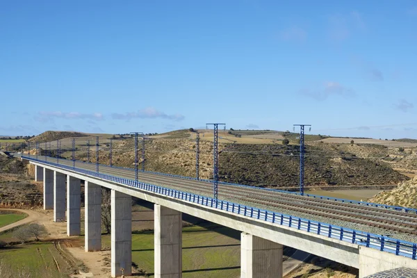
[[[28,156],[22,159],[36,165],[37,179],[44,181],[45,208],[54,209],[56,221],[65,220],[65,208],[62,208],[60,203],[65,199],[67,177],[69,236],[79,234],[79,181],[85,181],[86,251],[97,251],[101,248],[100,218],[99,212],[97,213],[101,204],[99,188],[102,186],[112,190],[113,277],[120,275],[120,268],[124,268],[125,274],[128,274],[126,269],[131,265],[131,196],[156,204],[156,277],[181,277],[181,213],[242,231],[241,277],[281,277],[282,245],[359,268],[360,277],[402,266],[417,268],[413,250],[416,246],[413,243],[402,243],[400,240],[384,243],[384,238],[361,234],[360,231],[326,224],[320,226],[320,223],[310,220],[291,216],[288,218],[279,213],[270,213],[245,205],[235,206],[220,200],[216,202],[209,197],[147,183],[136,184],[131,179],[123,179],[123,176],[131,178],[131,174],[121,170],[112,170],[121,173],[122,177],[115,177],[105,174],[108,169],[104,167],[100,169],[99,174],[92,172],[91,165],[83,165],[85,163],[77,163],[76,168],[72,169],[72,161],[59,161],[58,165],[56,158],[47,158],[49,162]],[[71,165],[67,165],[68,162]],[[54,197],[53,204],[48,201],[51,195]],[[387,252],[369,247],[377,247]]]

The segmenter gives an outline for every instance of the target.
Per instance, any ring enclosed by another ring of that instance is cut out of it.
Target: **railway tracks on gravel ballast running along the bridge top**
[[[56,158],[49,158],[48,161],[56,163]],[[59,163],[72,166],[72,161],[65,159],[60,159]],[[84,170],[96,171],[96,165],[93,163],[76,161],[75,166]],[[135,179],[133,169],[101,166],[99,172],[126,179]],[[209,181],[183,179],[181,177],[170,177],[148,172],[139,172],[139,181],[200,195],[211,196],[213,194],[213,183]],[[220,199],[237,199],[238,202],[267,206],[269,209],[277,212],[285,209],[286,211],[293,211],[293,215],[297,215],[297,213],[316,215],[334,220],[354,222],[367,227],[382,228],[395,233],[417,236],[417,214],[404,211],[326,199],[314,199],[313,197],[281,193],[274,190],[222,183],[219,183],[219,196]]]

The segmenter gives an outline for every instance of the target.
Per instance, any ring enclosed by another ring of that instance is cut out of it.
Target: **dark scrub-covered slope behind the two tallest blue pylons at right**
[[[219,157],[222,181],[253,186],[295,186],[299,179],[297,145],[231,145]],[[337,154],[337,156],[336,156]],[[395,184],[408,178],[385,163],[345,151],[306,148],[306,185],[361,186]]]

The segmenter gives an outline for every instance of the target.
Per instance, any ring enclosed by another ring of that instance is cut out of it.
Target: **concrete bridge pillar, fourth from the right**
[[[85,252],[101,250],[101,186],[85,181]]]

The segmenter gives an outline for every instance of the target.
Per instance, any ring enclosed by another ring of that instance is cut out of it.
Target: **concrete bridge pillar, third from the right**
[[[132,272],[132,198],[111,190],[111,276]]]

